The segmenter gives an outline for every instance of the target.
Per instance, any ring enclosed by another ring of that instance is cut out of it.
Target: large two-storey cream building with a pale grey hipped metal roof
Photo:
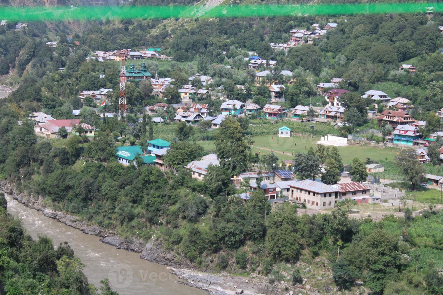
[[[304,203],[308,209],[331,209],[338,201],[340,189],[319,181],[305,179],[289,185],[290,199]]]

